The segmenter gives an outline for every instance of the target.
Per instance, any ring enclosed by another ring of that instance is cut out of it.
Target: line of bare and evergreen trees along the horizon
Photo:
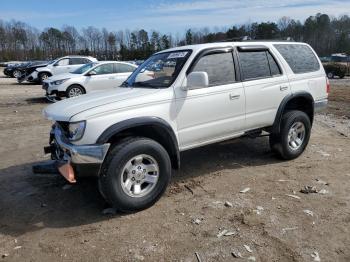
[[[223,30],[188,29],[183,36],[143,29],[108,31],[93,26],[78,30],[69,25],[40,31],[20,21],[0,20],[0,61],[54,59],[69,54],[92,55],[99,60],[145,59],[174,46],[241,39],[294,40],[309,43],[320,56],[350,54],[350,17],[316,14],[304,22],[282,17],[277,22]]]

